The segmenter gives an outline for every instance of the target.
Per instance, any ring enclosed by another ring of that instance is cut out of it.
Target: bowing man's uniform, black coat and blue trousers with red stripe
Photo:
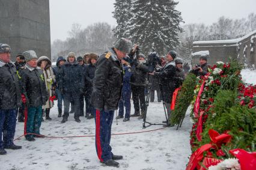
[[[111,126],[118,109],[123,82],[123,68],[113,49],[96,62],[91,103],[96,109],[96,151],[100,162],[112,159]]]

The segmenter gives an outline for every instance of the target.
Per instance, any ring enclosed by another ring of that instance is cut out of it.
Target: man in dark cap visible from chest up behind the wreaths
[[[208,73],[208,64],[207,64],[207,55],[200,56],[198,65],[192,67],[190,73],[195,74],[196,76],[205,76]]]

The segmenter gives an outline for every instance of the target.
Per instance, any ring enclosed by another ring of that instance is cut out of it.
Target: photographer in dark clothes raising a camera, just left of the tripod
[[[140,53],[137,59],[134,59],[132,65],[132,77],[130,84],[132,88],[132,100],[135,113],[131,117],[141,117],[145,115],[145,81],[148,74],[148,67],[145,61],[145,55]]]

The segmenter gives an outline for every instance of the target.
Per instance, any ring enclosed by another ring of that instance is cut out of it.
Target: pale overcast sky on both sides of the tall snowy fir
[[[177,10],[185,23],[206,23],[210,25],[219,17],[231,19],[247,17],[256,13],[256,0],[176,0]],[[82,28],[95,22],[116,25],[112,17],[115,0],[50,0],[51,40],[65,40],[72,23]]]

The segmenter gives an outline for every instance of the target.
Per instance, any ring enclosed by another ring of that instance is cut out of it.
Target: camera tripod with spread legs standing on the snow
[[[151,90],[151,87],[152,87],[152,83],[150,83],[148,81],[148,75],[147,75],[147,78],[146,78],[146,82],[145,82],[145,89],[146,89],[146,94],[145,94],[145,114],[144,114],[144,117],[143,117],[143,124],[142,124],[142,128],[145,129],[147,127],[150,127],[152,125],[166,125],[168,124],[168,118],[167,118],[167,114],[166,114],[166,110],[165,110],[165,103],[163,102],[163,109],[165,111],[165,118],[166,118],[166,124],[162,124],[162,123],[150,123],[148,121],[146,121],[146,118],[147,118],[147,109],[148,109],[148,106],[149,106],[149,99],[150,99],[150,90]],[[160,87],[160,85],[159,85]],[[161,91],[161,94],[162,94],[162,97],[163,97],[163,93],[162,93],[162,88],[160,88],[160,91]],[[148,124],[146,126],[146,124]]]

